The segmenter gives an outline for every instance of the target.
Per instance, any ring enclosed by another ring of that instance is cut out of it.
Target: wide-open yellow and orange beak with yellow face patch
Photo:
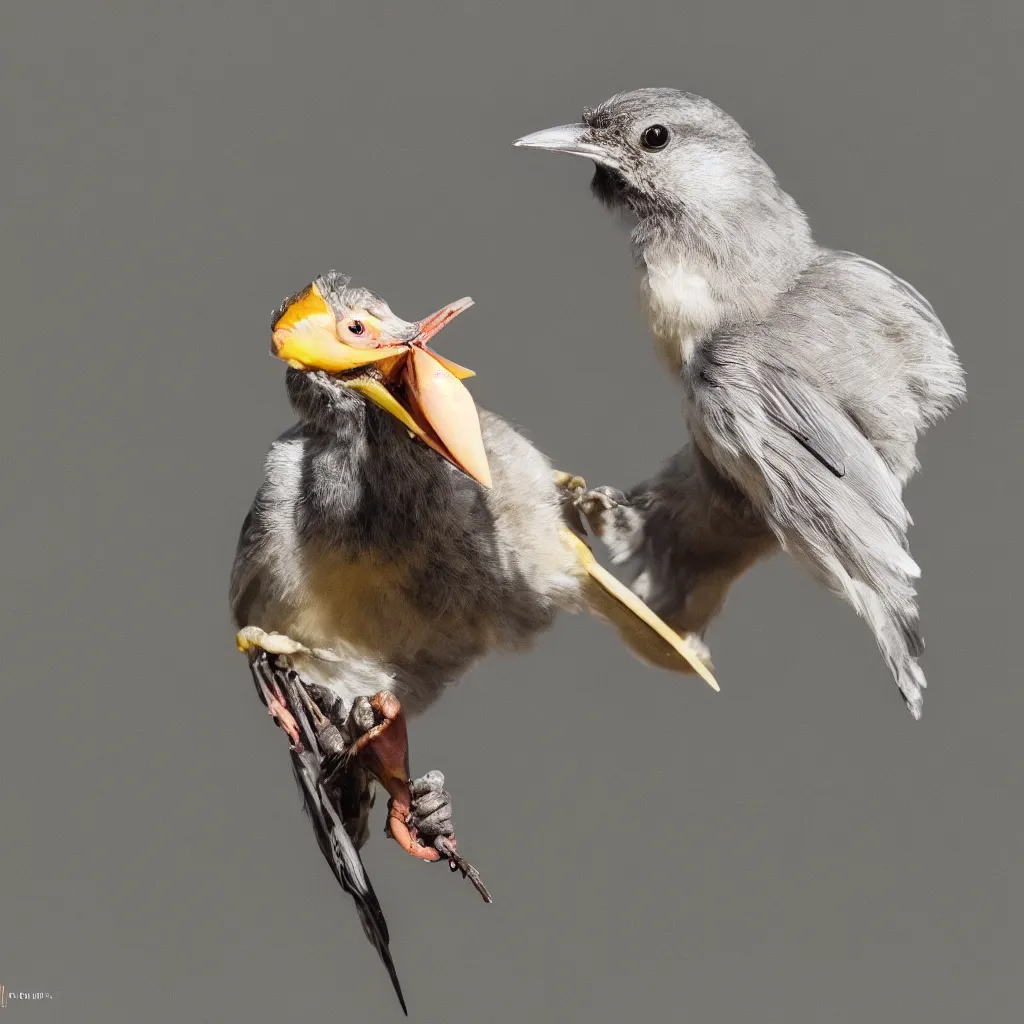
[[[462,383],[473,371],[426,347],[472,304],[472,299],[465,298],[438,309],[416,324],[417,334],[411,341],[389,338],[376,348],[357,348],[340,339],[333,310],[316,286],[310,285],[274,324],[272,350],[289,366],[330,374],[380,364],[377,373],[340,377],[338,383],[365,395],[454,466],[489,487],[480,420]]]

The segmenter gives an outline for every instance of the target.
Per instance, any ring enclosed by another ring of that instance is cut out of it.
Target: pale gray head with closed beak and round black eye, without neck
[[[767,171],[728,114],[678,89],[620,93],[585,110],[578,124],[515,144],[594,161],[598,199],[641,218],[689,212],[714,219],[749,200]]]

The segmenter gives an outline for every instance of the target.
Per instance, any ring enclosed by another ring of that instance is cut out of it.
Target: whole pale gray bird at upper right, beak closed
[[[581,507],[636,592],[702,634],[732,582],[779,546],[870,627],[921,716],[903,485],[919,435],[965,397],[929,302],[870,260],[815,244],[803,211],[710,100],[639,89],[516,145],[592,160],[592,189],[634,221],[657,349],[691,444],[629,495]]]

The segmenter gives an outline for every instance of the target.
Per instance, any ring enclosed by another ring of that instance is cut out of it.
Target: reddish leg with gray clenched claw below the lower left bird
[[[446,859],[453,871],[461,871],[488,903],[479,873],[456,850],[452,826],[452,798],[444,791],[444,776],[428,772],[411,780],[409,733],[398,698],[381,690],[369,700],[357,697],[348,719],[349,732],[357,738],[349,756],[361,759],[387,791],[387,835],[408,854],[419,860]]]

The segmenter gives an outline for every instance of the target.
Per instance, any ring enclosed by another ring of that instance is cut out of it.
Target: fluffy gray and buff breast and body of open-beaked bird
[[[547,629],[579,601],[551,466],[500,418],[480,423],[489,490],[400,431],[283,435],[240,541],[242,625],[376,659],[421,689]]]

